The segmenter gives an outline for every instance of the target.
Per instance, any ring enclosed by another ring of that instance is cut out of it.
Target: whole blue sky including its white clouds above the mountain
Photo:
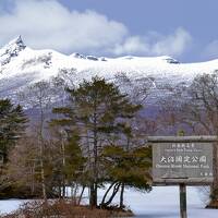
[[[218,0],[0,1],[0,45],[96,56],[218,58]]]

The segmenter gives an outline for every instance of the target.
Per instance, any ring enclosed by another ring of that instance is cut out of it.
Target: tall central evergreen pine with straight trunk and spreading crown
[[[90,206],[97,206],[97,189],[101,179],[100,150],[109,144],[109,138],[118,136],[120,123],[133,118],[141,105],[131,104],[126,95],[122,95],[117,86],[104,78],[94,77],[84,81],[75,89],[68,88],[70,102],[66,107],[55,108],[63,119],[56,121],[72,126],[80,132],[80,145],[89,161]]]

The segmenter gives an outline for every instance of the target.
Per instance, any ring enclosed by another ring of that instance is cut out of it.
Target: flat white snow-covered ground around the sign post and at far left
[[[197,187],[187,187],[189,218],[217,218],[217,209],[205,209],[203,196]],[[0,201],[0,211],[10,213],[19,207],[23,201]],[[150,193],[142,194],[133,190],[125,191],[125,205],[138,218],[178,218],[179,187],[157,186]]]

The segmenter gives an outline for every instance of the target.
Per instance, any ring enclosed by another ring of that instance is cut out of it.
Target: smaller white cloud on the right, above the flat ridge
[[[191,35],[182,27],[171,35],[162,36],[158,33],[148,33],[147,36],[128,37],[113,49],[116,55],[140,52],[154,56],[181,56],[192,41]]]

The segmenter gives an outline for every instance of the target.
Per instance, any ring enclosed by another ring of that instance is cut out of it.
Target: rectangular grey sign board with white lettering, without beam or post
[[[214,180],[211,142],[153,144],[153,180],[165,184],[209,184]]]

